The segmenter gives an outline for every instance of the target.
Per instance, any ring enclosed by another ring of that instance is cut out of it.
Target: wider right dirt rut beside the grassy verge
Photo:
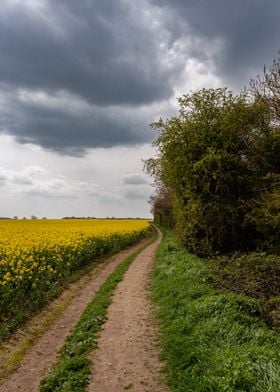
[[[89,392],[169,391],[160,372],[157,331],[148,298],[159,239],[141,252],[118,285],[93,361]]]

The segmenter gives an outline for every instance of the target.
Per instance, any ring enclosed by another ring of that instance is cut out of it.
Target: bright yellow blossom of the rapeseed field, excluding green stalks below
[[[143,220],[0,221],[0,285],[35,288],[134,242],[149,227]]]

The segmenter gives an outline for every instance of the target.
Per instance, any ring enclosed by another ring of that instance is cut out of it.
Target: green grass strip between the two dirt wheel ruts
[[[151,241],[128,256],[101,285],[67,337],[53,371],[41,381],[41,392],[85,391],[91,366],[86,354],[97,348],[98,334],[106,321],[107,308],[112,302],[114,290],[130,264],[157,239],[157,236],[157,231],[154,230]]]

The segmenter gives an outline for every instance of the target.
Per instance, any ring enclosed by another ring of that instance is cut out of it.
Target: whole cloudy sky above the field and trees
[[[279,0],[1,0],[0,216],[150,217],[149,124],[244,88],[279,18]]]

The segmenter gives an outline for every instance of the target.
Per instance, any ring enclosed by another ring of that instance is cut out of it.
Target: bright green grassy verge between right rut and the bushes
[[[167,232],[153,300],[172,391],[278,392],[280,337],[258,317],[257,299],[214,287],[209,267]]]

